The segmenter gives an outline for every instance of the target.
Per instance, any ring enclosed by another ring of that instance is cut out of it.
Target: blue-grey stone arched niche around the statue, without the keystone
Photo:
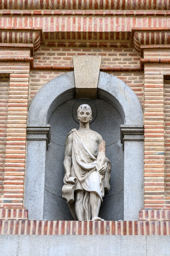
[[[29,219],[72,219],[61,198],[61,188],[65,137],[72,128],[78,128],[71,116],[75,101],[74,72],[69,72],[44,85],[30,105],[24,195]],[[91,129],[106,140],[107,156],[112,161],[112,188],[100,216],[110,220],[137,219],[143,207],[141,104],[128,85],[104,72],[99,74],[95,102],[98,117]]]

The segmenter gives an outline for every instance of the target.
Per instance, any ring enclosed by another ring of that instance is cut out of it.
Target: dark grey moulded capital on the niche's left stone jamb
[[[46,141],[46,147],[48,150],[50,139],[50,125],[46,127],[27,127],[27,141]]]

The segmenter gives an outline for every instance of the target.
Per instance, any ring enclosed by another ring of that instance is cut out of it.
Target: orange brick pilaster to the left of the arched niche
[[[0,57],[8,54],[1,51]],[[10,56],[15,51],[9,52]],[[30,50],[16,50],[18,57],[30,56]],[[29,87],[29,62],[0,63],[1,72],[10,74],[7,109],[6,149],[1,207],[22,207],[26,158],[26,126]]]

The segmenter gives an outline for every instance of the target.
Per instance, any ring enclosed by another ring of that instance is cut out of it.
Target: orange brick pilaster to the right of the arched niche
[[[146,59],[167,59],[167,50],[144,51]],[[166,202],[166,132],[164,132],[164,75],[170,64],[144,65],[144,207],[169,209]]]

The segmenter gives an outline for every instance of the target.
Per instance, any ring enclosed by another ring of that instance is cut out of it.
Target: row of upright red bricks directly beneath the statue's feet
[[[0,220],[0,235],[167,236],[170,221]]]

